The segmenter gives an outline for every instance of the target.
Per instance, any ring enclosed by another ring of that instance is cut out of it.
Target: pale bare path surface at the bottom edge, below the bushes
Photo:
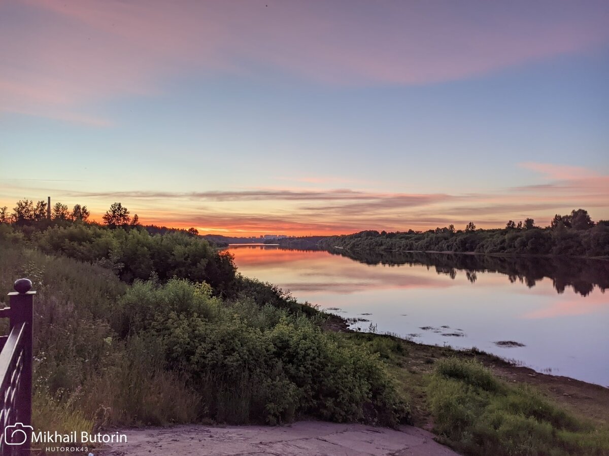
[[[105,456],[453,456],[417,427],[300,421],[291,426],[176,426],[127,430]]]

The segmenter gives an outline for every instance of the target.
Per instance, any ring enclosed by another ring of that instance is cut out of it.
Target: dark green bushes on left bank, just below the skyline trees
[[[177,277],[205,281],[217,295],[233,292],[233,256],[217,251],[202,237],[180,232],[151,235],[142,227],[111,230],[82,222],[40,223],[19,230],[46,253],[102,265],[128,283]]]

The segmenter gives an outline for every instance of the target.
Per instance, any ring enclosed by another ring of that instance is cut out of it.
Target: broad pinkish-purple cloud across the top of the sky
[[[5,2],[0,111],[94,125],[96,105],[181,74],[258,69],[339,85],[462,79],[609,39],[609,4]]]

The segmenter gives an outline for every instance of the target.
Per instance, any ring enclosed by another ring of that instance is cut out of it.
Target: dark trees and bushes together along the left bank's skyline
[[[127,283],[175,277],[205,281],[218,295],[236,293],[233,256],[217,250],[195,228],[142,226],[121,203],[110,206],[103,223],[89,221],[90,211],[79,204],[70,210],[55,203],[51,220],[47,214],[44,201],[19,200],[12,213],[0,208],[0,234],[44,253],[102,265]]]

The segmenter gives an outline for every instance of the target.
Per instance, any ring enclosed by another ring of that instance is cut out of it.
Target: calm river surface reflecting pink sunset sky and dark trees
[[[476,346],[538,371],[609,385],[607,261],[230,250],[245,276],[342,317],[370,320],[354,325],[362,331],[373,324],[417,342]]]

